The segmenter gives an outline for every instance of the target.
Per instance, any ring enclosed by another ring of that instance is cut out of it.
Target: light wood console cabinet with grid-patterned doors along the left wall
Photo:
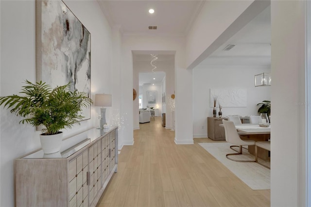
[[[87,139],[52,155],[15,162],[17,207],[95,207],[118,166],[118,127],[85,132]],[[54,157],[53,157],[54,156]]]

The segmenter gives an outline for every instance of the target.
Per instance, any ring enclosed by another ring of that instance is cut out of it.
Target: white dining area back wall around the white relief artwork
[[[228,115],[258,115],[258,103],[270,100],[270,86],[255,87],[255,75],[270,72],[262,67],[197,66],[193,69],[193,137],[207,138],[207,117],[212,117],[210,89],[247,89],[247,107],[223,107],[223,117]],[[217,107],[218,116],[219,107]]]

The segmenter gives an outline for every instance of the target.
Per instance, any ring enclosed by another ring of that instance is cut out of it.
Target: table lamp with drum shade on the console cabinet
[[[101,121],[99,124],[99,128],[101,129],[102,127],[108,128],[106,126],[106,108],[108,106],[112,105],[112,98],[111,94],[95,94],[95,106],[100,106],[101,107]]]

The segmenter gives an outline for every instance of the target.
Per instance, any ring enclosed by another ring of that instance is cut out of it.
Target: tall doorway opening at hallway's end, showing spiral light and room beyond
[[[172,129],[173,118],[167,100],[175,91],[175,52],[132,51],[132,53],[133,88],[139,94],[133,105],[134,130],[139,129],[141,110],[151,110],[151,121],[154,117],[165,117],[166,125],[162,126]],[[154,56],[157,57],[156,60]],[[168,114],[163,116],[167,111]]]

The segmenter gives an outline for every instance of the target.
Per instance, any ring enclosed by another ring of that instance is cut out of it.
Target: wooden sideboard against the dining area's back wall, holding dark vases
[[[208,138],[219,141],[225,140],[225,128],[219,126],[225,118],[207,117],[207,136]],[[226,119],[225,119],[226,120]]]

